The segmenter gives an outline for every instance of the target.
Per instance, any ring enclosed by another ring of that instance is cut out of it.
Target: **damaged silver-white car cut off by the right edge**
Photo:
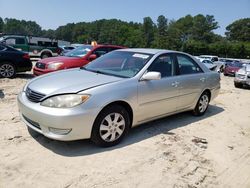
[[[235,73],[234,86],[242,88],[244,85],[250,86],[250,64],[244,64],[242,68]]]

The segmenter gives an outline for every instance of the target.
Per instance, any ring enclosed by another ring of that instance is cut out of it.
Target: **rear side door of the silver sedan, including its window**
[[[180,91],[177,110],[184,110],[198,101],[206,83],[206,74],[188,55],[176,53],[177,83]]]

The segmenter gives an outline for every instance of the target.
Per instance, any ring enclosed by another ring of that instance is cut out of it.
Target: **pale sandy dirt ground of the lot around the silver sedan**
[[[0,79],[1,188],[250,187],[250,90],[234,88],[233,78],[222,76],[205,116],[154,121],[98,148],[27,130],[16,96],[30,77]]]

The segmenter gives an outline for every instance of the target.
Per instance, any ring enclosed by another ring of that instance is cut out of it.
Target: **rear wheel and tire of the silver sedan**
[[[206,100],[206,105],[205,105]],[[204,102],[204,103],[203,103]],[[210,102],[210,95],[207,91],[203,92],[193,110],[193,115],[202,116],[207,111]]]

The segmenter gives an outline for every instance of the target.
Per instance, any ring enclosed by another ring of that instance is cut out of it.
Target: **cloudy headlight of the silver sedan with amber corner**
[[[57,95],[44,100],[43,102],[41,102],[41,105],[52,108],[71,108],[87,101],[88,98],[89,95]]]

